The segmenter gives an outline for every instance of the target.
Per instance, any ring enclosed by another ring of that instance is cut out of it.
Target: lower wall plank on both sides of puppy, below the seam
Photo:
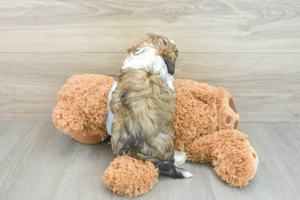
[[[0,120],[51,121],[69,77],[116,77],[126,55],[0,53]],[[227,89],[241,122],[300,122],[298,53],[180,53],[174,77]]]

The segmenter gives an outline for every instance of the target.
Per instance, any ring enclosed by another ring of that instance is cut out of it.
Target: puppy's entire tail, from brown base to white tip
[[[155,168],[158,168],[161,174],[169,175],[175,178],[189,178],[193,177],[193,175],[186,170],[176,167],[174,163],[168,162],[168,161],[161,161],[153,157],[147,157],[144,155],[136,155],[131,154],[130,157],[134,157],[140,160],[148,160],[152,162],[155,166]]]

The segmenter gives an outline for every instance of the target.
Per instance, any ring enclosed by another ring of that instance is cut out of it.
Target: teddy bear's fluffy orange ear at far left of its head
[[[55,126],[66,134],[77,133],[84,129],[86,118],[81,111],[66,101],[59,101],[52,113]]]

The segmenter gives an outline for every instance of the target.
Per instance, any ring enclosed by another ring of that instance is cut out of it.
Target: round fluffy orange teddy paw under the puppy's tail
[[[113,192],[133,197],[151,190],[158,175],[159,170],[152,162],[125,155],[111,162],[102,179]]]

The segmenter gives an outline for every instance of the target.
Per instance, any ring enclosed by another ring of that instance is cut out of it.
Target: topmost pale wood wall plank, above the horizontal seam
[[[1,0],[0,52],[126,52],[148,32],[180,52],[300,52],[295,0]]]

